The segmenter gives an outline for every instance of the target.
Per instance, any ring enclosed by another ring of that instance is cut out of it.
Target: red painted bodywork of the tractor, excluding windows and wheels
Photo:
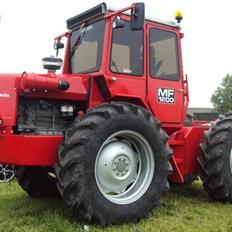
[[[133,7],[129,7],[131,9]],[[126,8],[127,9],[127,8]],[[17,135],[13,128],[17,124],[18,101],[20,96],[30,98],[48,98],[62,100],[78,100],[86,102],[87,108],[95,107],[103,102],[126,101],[143,106],[161,121],[163,129],[169,134],[169,144],[173,150],[171,164],[174,173],[170,177],[173,182],[184,183],[188,175],[197,175],[197,157],[199,143],[203,139],[203,131],[208,126],[198,123],[192,127],[184,127],[183,122],[188,106],[188,83],[184,79],[181,56],[182,33],[177,27],[172,27],[152,21],[144,23],[144,74],[129,76],[112,73],[110,66],[110,50],[112,41],[112,22],[118,12],[108,12],[105,15],[106,27],[102,67],[99,72],[89,74],[69,73],[69,39],[64,57],[62,74],[8,74],[0,75],[0,163],[16,165],[53,166],[56,162],[57,147],[62,142],[62,136],[50,135]],[[129,20],[129,16],[121,15]],[[151,28],[168,30],[177,35],[179,80],[170,82],[150,77],[149,69],[149,30]],[[61,37],[56,40],[60,40]],[[66,91],[57,88],[59,80],[66,80],[70,87]],[[157,87],[176,90],[176,103],[172,105],[158,104],[155,99]]]

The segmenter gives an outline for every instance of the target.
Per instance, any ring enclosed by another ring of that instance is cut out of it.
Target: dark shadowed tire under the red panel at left
[[[59,197],[56,178],[52,170],[45,167],[16,166],[15,176],[18,184],[31,197]]]

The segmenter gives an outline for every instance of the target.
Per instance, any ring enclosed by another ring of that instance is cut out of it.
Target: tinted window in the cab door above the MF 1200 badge
[[[150,75],[179,80],[177,36],[173,32],[150,30]]]

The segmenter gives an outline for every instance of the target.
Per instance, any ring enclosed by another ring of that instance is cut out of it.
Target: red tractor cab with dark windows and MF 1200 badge
[[[144,20],[143,3],[119,11],[102,3],[68,19],[67,28],[63,73],[104,76],[108,81],[98,83],[104,98],[134,95],[133,102],[150,108],[164,126],[183,125],[188,90],[179,23]],[[61,38],[55,39],[57,51]]]

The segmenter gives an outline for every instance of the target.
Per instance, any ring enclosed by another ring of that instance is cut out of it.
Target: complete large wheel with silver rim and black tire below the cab
[[[81,220],[136,222],[168,190],[170,156],[167,135],[148,111],[103,104],[79,118],[60,146],[61,196]]]

